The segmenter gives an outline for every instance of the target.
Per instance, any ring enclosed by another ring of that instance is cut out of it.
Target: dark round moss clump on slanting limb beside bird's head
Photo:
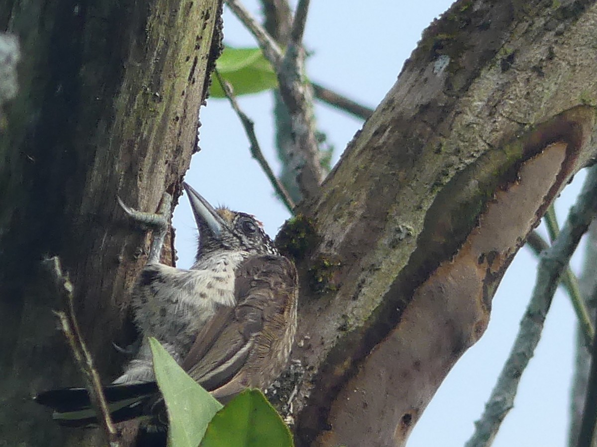
[[[298,262],[318,244],[318,240],[313,219],[298,214],[284,222],[276,236],[276,247],[284,256]]]

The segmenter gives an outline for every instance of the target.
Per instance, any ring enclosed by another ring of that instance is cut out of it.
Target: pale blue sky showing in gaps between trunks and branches
[[[259,12],[255,1],[245,6]],[[307,61],[310,79],[329,86],[362,104],[375,107],[396,81],[405,59],[423,29],[451,2],[416,3],[312,1],[304,41],[312,52]],[[405,6],[406,5],[406,6]],[[253,38],[224,10],[224,41],[254,46]],[[275,171],[272,103],[269,94],[240,98],[241,107],[255,122],[261,148]],[[316,105],[318,127],[336,146],[334,162],[362,122],[332,108]],[[186,181],[212,204],[252,213],[272,237],[288,218],[284,206],[257,163],[229,104],[208,100],[201,110],[201,151],[193,156]],[[556,204],[560,222],[580,189],[577,176]],[[174,213],[178,265],[187,268],[195,253],[196,230],[185,198]],[[580,260],[573,259],[578,272]],[[461,446],[473,432],[504,359],[534,284],[536,260],[526,249],[516,256],[493,301],[490,325],[482,339],[453,368],[415,427],[410,447]],[[536,356],[522,377],[515,408],[507,416],[494,446],[564,446],[568,430],[568,394],[573,368],[575,319],[567,296],[558,291],[547,317]]]

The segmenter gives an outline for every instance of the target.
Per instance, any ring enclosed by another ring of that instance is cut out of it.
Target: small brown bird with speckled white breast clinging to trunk
[[[153,374],[148,337],[214,398],[226,403],[251,387],[265,390],[284,371],[297,325],[298,277],[263,225],[247,213],[215,209],[183,182],[199,230],[195,263],[179,269],[159,262],[167,219],[119,203],[154,228],[152,250],[132,293],[141,344],[124,372],[104,387],[114,422],[144,417],[167,424]],[[40,393],[63,426],[97,426],[85,388]]]

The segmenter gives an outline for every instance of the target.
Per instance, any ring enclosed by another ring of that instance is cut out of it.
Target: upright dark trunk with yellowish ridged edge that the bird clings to
[[[94,430],[67,439],[30,399],[82,380],[40,260],[60,256],[85,339],[113,377],[144,259],[116,195],[148,211],[165,190],[179,195],[220,14],[219,0],[0,3],[0,29],[21,44],[19,94],[0,126],[0,445],[101,442]]]

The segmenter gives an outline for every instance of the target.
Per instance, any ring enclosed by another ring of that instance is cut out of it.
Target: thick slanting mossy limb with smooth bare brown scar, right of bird
[[[593,1],[458,1],[424,32],[281,239],[318,241],[298,255],[300,445],[404,445],[597,153],[596,35]]]

